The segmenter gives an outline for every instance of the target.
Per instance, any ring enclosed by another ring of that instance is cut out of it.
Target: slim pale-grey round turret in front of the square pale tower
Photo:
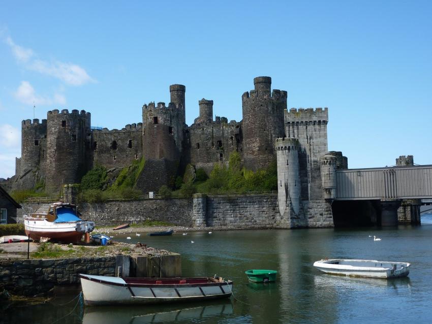
[[[279,212],[286,210],[295,215],[300,211],[300,169],[298,151],[300,143],[294,138],[279,138],[274,142],[277,159],[277,198]],[[290,214],[290,213],[289,213]]]

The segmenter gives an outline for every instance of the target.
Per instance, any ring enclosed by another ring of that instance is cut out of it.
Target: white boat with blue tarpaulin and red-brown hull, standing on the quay
[[[85,233],[95,229],[95,222],[78,217],[73,204],[53,203],[47,209],[24,216],[25,234],[30,238],[77,243]]]

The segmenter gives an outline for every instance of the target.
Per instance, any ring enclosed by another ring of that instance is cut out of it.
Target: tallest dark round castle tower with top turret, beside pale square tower
[[[274,141],[284,137],[284,109],[287,108],[287,91],[273,90],[271,78],[254,79],[255,90],[244,92],[243,156],[244,166],[257,170],[267,167],[274,159]]]

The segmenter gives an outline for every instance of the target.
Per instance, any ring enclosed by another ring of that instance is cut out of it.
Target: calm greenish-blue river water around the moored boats
[[[372,237],[369,237],[372,236]],[[382,240],[374,242],[376,235]],[[183,276],[234,281],[230,300],[145,307],[82,307],[78,291],[43,305],[14,304],[0,323],[430,323],[432,215],[397,229],[304,229],[189,232],[114,239],[182,255]],[[194,241],[192,243],[191,241]],[[324,257],[411,263],[393,280],[331,276],[312,265]],[[248,282],[245,270],[277,270],[277,281]]]

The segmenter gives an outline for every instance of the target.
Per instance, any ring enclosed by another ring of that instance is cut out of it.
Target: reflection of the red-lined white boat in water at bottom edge
[[[83,324],[118,323],[170,323],[170,322],[207,322],[211,318],[224,318],[233,313],[231,302],[204,304],[201,306],[180,304],[176,306],[115,306],[86,307]]]

